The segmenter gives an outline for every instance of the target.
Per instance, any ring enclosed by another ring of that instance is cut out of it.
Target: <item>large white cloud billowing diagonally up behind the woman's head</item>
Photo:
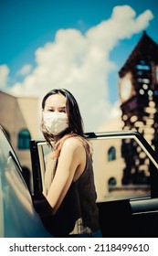
[[[37,49],[37,68],[12,91],[43,97],[53,88],[66,88],[79,102],[86,131],[96,131],[111,116],[107,82],[115,69],[109,59],[111,49],[120,39],[147,27],[152,18],[149,10],[136,17],[134,10],[124,5],[116,6],[108,20],[84,35],[77,29],[59,29],[53,42]]]

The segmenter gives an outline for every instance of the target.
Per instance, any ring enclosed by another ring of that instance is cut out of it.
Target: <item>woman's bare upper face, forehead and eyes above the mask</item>
[[[62,94],[53,94],[45,102],[44,112],[66,112],[67,99]]]

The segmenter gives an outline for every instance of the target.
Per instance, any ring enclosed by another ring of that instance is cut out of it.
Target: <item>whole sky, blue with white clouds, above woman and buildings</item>
[[[99,123],[108,119],[108,113],[98,114],[101,109],[110,112],[119,101],[118,71],[142,31],[158,43],[157,0],[1,0],[0,6],[0,90],[42,97],[66,87],[79,100],[88,130],[96,129],[94,116]],[[118,28],[112,26],[117,20]]]

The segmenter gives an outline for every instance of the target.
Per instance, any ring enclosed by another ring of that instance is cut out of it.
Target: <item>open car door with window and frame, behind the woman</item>
[[[86,133],[93,146],[94,178],[103,237],[158,237],[158,157],[140,133]],[[31,141],[34,197],[40,197],[45,141]]]

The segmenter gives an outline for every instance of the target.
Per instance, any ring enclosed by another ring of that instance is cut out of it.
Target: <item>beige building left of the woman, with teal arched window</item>
[[[38,99],[17,98],[0,91],[0,109],[0,125],[5,129],[22,167],[30,172],[29,141],[37,138],[39,130]]]

